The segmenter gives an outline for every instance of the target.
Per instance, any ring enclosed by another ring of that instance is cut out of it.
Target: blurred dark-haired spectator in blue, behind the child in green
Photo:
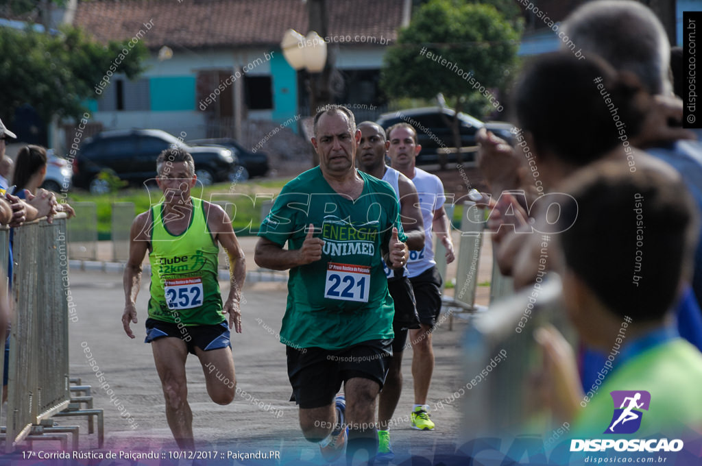
[[[517,124],[524,133],[517,136],[517,151],[529,152],[528,157],[534,161],[538,179],[543,182],[546,192],[567,192],[567,182],[562,180],[578,168],[600,159],[618,161],[630,173],[651,168],[670,179],[681,178],[667,164],[633,149],[626,138],[621,139],[619,128],[636,134],[644,126],[647,113],[655,103],[635,76],[617,73],[596,55],[588,55],[588,60],[578,60],[570,53],[559,52],[536,58],[523,70],[513,98]],[[611,107],[617,110],[617,120],[625,121],[625,126],[616,124],[605,99],[611,99]],[[531,182],[534,186],[531,173],[534,172],[527,173],[531,180],[522,177],[524,185]],[[499,230],[503,223],[516,223],[521,224],[524,231],[531,231],[522,206],[509,197],[503,197],[501,204],[496,206],[496,213],[491,214],[491,228]],[[501,215],[510,204],[512,212],[517,215]],[[545,206],[548,204],[544,203]],[[538,212],[529,214],[536,217],[536,229],[554,231]],[[606,226],[601,222],[603,234]],[[539,268],[545,267],[539,263],[540,235],[499,232],[496,241],[498,263],[501,269],[512,273],[515,284],[531,284]],[[631,241],[635,241],[635,236]],[[557,262],[557,252],[549,252],[550,263]],[[652,268],[651,263],[644,260],[640,274],[654,273]],[[684,338],[702,348],[702,315],[689,285],[683,289],[682,299],[677,305],[677,328]],[[579,359],[583,387],[590,387],[597,378],[597,371],[604,365],[605,355],[583,347]]]

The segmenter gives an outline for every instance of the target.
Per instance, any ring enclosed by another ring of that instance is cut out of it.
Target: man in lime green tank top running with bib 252
[[[122,326],[128,337],[134,338],[129,324],[137,323],[135,301],[148,251],[151,298],[145,342],[151,343],[161,378],[168,427],[180,448],[192,450],[185,360],[188,352],[200,360],[212,401],[232,402],[237,382],[230,328],[234,326],[241,333],[239,300],[246,264],[225,211],[190,197],[197,180],[192,156],[178,147],[166,149],[157,159],[157,173],[164,200],[137,215],[131,226]],[[224,303],[218,283],[218,244],[230,260],[231,284]],[[225,314],[229,314],[229,326]]]

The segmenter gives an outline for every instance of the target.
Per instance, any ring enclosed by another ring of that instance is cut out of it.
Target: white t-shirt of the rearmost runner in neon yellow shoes
[[[444,185],[437,175],[432,175],[423,171],[421,168],[414,169],[415,174],[412,178],[414,186],[417,188],[419,195],[419,208],[422,211],[422,220],[424,220],[424,248],[421,251],[409,251],[409,261],[407,269],[409,277],[417,277],[425,270],[436,265],[434,260],[434,241],[432,241],[432,222],[434,220],[434,211],[438,210],[446,202],[444,195]]]

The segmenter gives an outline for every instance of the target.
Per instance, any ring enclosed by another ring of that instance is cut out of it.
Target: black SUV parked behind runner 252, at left
[[[74,161],[74,185],[93,194],[106,192],[107,182],[98,178],[102,171],[138,185],[156,177],[156,158],[173,145],[192,154],[197,180],[205,186],[234,180],[241,173],[236,156],[225,147],[189,146],[158,129],[103,131],[81,145]]]

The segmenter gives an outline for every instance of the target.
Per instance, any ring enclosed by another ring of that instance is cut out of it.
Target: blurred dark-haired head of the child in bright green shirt
[[[698,219],[687,189],[614,161],[584,168],[568,185],[576,201],[561,206],[559,225],[572,226],[557,236],[566,307],[583,340],[611,345],[603,322],[624,316],[660,324],[691,276]]]

